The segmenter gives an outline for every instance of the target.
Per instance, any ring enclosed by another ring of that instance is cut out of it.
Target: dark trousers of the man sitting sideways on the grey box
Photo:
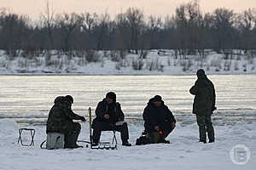
[[[64,148],[75,148],[79,139],[81,125],[78,122],[73,123],[73,129],[69,133],[65,133]]]

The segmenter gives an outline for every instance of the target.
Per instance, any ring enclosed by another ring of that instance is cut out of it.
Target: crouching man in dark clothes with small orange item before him
[[[151,143],[170,143],[166,137],[175,128],[176,120],[160,95],[149,99],[143,112],[143,119]]]

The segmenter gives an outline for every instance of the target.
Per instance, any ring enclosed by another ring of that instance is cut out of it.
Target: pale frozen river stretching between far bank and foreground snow
[[[216,88],[218,116],[255,116],[256,75],[209,76]],[[160,94],[177,116],[191,116],[189,88],[195,76],[1,76],[0,118],[45,122],[56,96],[71,94],[73,110],[87,116],[108,91],[125,115],[141,118],[148,99]]]

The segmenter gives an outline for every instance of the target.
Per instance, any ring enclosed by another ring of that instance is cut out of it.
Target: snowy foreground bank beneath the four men
[[[46,138],[45,127],[36,126],[35,146],[21,147],[17,144],[18,128],[10,119],[0,120],[0,169],[59,170],[59,169],[182,169],[219,170],[253,169],[256,166],[255,122],[233,122],[215,125],[216,143],[197,143],[198,127],[195,123],[179,124],[168,137],[171,144],[149,144],[123,147],[118,150],[41,150],[39,144]],[[140,135],[142,123],[129,122],[131,143]],[[88,123],[82,123],[79,139],[88,140]],[[26,135],[25,135],[26,137]],[[25,138],[26,139],[26,138]],[[111,139],[111,133],[102,133],[102,140]],[[119,141],[118,134],[118,141]],[[120,143],[120,141],[119,141]],[[244,144],[251,151],[245,165],[230,160],[230,150],[236,144]]]

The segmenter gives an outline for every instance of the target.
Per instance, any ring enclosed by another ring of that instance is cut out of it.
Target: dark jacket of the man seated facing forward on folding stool
[[[105,119],[104,115],[108,114],[109,119]],[[121,105],[118,102],[113,102],[108,104],[106,99],[103,99],[96,107],[96,118],[94,120],[97,122],[110,122],[115,124],[119,121],[124,121],[125,115],[121,110]]]

